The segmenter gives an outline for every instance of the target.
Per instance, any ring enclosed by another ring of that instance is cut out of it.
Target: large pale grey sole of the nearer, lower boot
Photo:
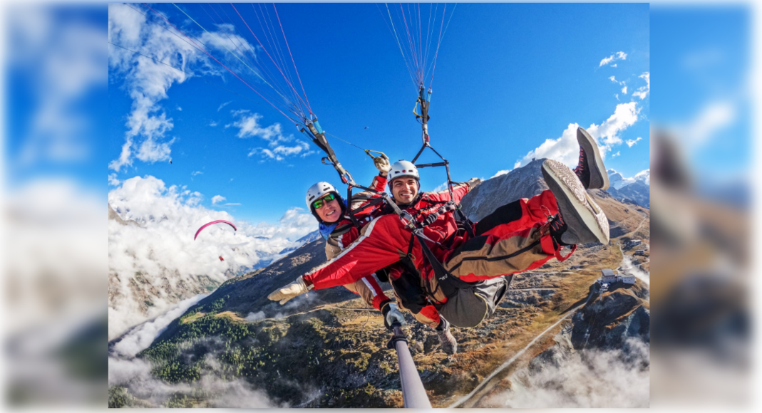
[[[575,173],[558,160],[547,159],[543,162],[543,175],[545,175],[546,183],[555,195],[556,202],[560,204],[566,201],[571,213],[577,215],[579,221],[584,223],[588,231],[600,243],[609,243],[609,221],[606,214],[591,199]],[[553,188],[554,186],[555,188]],[[558,192],[562,192],[564,199],[559,199],[561,194]],[[560,208],[561,205],[559,205]]]

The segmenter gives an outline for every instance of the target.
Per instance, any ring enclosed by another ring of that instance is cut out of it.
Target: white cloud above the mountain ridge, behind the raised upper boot
[[[613,115],[611,115],[600,125],[592,124],[586,129],[588,133],[597,142],[601,155],[605,157],[607,151],[613,148],[613,145],[622,143],[620,133],[637,122],[640,112],[636,102],[619,103],[616,105]],[[577,142],[577,123],[570,123],[562,132],[560,138],[549,138],[539,145],[526,156],[516,161],[514,168],[522,167],[530,163],[533,158],[547,157],[567,164],[569,167],[575,167],[579,157],[579,144]]]

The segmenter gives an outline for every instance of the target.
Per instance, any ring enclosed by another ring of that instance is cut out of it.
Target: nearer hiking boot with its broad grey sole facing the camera
[[[545,182],[559,205],[560,221],[566,226],[559,240],[566,245],[596,241],[608,243],[609,221],[606,214],[588,195],[575,173],[552,159],[546,159],[542,169]],[[562,229],[562,225],[557,229]]]

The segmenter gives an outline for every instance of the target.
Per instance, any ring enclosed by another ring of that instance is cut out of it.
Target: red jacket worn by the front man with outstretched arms
[[[453,188],[453,201],[459,202],[469,192],[469,184],[460,183]],[[442,202],[450,200],[450,193],[426,192],[415,205],[405,208],[413,218],[421,222],[429,214],[437,211]],[[455,247],[462,243],[461,237],[454,237],[457,231],[457,222],[453,217],[453,211],[440,214],[437,219],[424,227],[424,236],[434,242],[429,242],[437,258],[444,259],[450,249],[442,248],[437,243],[447,241]],[[331,288],[357,281],[363,276],[385,268],[398,262],[408,253],[408,245],[411,239],[411,231],[405,227],[399,216],[386,214],[373,219],[370,224],[363,227],[360,237],[351,246],[341,252],[335,259],[325,262],[311,272],[303,276],[307,284],[314,284],[316,289]],[[431,265],[424,260],[421,244],[416,239],[413,245],[413,262],[421,271],[421,275],[430,278],[432,275]]]

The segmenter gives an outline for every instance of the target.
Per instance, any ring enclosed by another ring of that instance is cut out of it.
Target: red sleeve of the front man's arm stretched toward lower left
[[[396,215],[384,215],[363,228],[363,235],[335,259],[303,276],[315,289],[337,287],[360,280],[368,274],[399,261],[399,251],[407,249],[409,234],[403,234]]]

